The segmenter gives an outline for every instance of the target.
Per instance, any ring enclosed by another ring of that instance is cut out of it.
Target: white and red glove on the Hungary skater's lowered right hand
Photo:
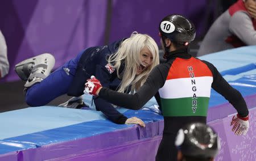
[[[238,114],[233,116],[230,126],[232,125],[232,132],[236,135],[245,135],[249,130],[249,115],[246,117],[241,117]]]

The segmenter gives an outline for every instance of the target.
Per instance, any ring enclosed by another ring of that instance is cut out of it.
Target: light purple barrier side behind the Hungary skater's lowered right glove
[[[221,141],[221,149],[215,158],[218,160],[250,160],[256,159],[256,108],[250,109],[250,128],[246,135],[235,135],[232,132],[230,121],[232,116],[220,120],[208,122],[218,133]]]

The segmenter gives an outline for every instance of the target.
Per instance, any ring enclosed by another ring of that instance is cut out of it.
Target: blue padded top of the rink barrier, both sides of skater
[[[256,95],[255,51],[256,46],[247,46],[200,58],[213,63],[221,74],[224,74],[224,78],[246,97]],[[226,100],[213,90],[211,95],[210,108],[226,103]],[[93,108],[91,98],[84,96],[84,99]],[[156,104],[156,101],[151,99],[146,106],[153,104]],[[142,118],[146,124],[163,120],[161,115],[150,109],[133,111],[118,108],[118,111],[127,117]],[[51,106],[0,113],[0,121],[0,154],[118,132],[135,126],[114,124],[99,111]]]

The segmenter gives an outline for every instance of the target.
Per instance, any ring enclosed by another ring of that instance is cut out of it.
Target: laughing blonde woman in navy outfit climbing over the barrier
[[[158,46],[152,37],[133,32],[129,38],[106,46],[94,46],[66,62],[50,74],[55,59],[51,54],[41,54],[24,60],[15,66],[19,77],[27,81],[26,103],[40,106],[60,95],[81,96],[90,75],[96,75],[102,86],[118,92],[138,90],[150,71],[159,63]],[[139,124],[139,118],[128,118],[119,113],[112,104],[93,97],[98,111],[117,124]]]

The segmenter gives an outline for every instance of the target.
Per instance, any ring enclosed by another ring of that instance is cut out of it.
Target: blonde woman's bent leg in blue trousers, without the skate
[[[27,88],[26,103],[31,106],[41,106],[49,103],[58,96],[67,94],[81,54],[66,62],[59,69],[43,79],[43,81]]]

